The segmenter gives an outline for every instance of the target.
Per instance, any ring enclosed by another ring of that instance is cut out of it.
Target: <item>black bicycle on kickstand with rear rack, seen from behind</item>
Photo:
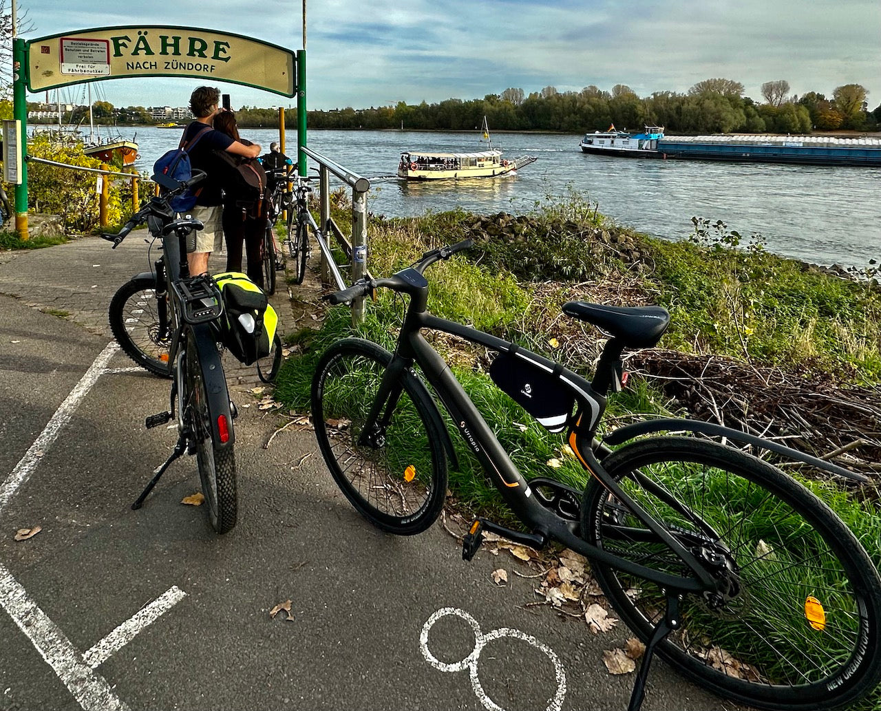
[[[152,479],[132,508],[143,505],[147,494],[175,459],[195,454],[211,526],[218,533],[226,533],[235,526],[238,500],[233,451],[236,410],[226,388],[226,374],[218,349],[223,301],[211,277],[186,274],[186,244],[188,238],[202,229],[202,223],[192,218],[175,219],[169,205],[172,197],[192,188],[204,180],[204,176],[197,172],[189,181],[179,182],[165,175],[154,175],[152,180],[167,192],[153,197],[119,233],[103,237],[113,241],[116,248],[132,229],[145,222],[153,238],[161,241],[163,250],[156,273],[149,274],[149,278],[138,275],[123,285],[110,309],[111,327],[126,352],[152,372],[173,378],[169,409],[146,418],[145,424],[151,428],[176,418],[178,440],[166,462],[153,471]],[[133,304],[135,297],[142,300]],[[136,314],[137,311],[153,311],[155,328],[150,330],[150,337],[157,349],[151,355],[127,347],[126,344],[130,346],[133,341],[127,330],[127,319],[121,317],[126,308],[138,317],[141,314]],[[117,333],[120,323],[122,331]]]

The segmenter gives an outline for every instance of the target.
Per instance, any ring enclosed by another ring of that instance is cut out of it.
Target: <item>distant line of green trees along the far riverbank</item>
[[[828,98],[817,92],[790,96],[782,79],[762,85],[764,102],[744,96],[744,85],[724,78],[701,81],[687,93],[655,92],[643,98],[623,84],[611,92],[593,85],[580,92],[545,86],[529,96],[510,88],[483,99],[309,111],[307,122],[312,129],[399,129],[403,124],[407,129],[473,130],[486,116],[492,130],[570,133],[606,130],[611,124],[621,130],[663,126],[667,133],[684,134],[878,130],[881,106],[869,111],[867,94],[862,85],[848,84]],[[239,123],[252,125],[247,109]],[[288,110],[285,124],[296,125],[295,109]]]

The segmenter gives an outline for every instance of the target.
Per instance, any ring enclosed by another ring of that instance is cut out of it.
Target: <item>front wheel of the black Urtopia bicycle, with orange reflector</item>
[[[377,528],[401,536],[426,530],[447,493],[447,453],[431,416],[434,405],[412,372],[387,426],[359,444],[391,353],[360,338],[324,352],[312,380],[315,437],[345,497]]]

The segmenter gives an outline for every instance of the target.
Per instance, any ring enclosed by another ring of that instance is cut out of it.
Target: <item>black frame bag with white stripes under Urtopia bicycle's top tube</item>
[[[563,367],[547,371],[528,355],[517,355],[518,350],[512,346],[509,352],[499,353],[490,366],[490,378],[539,424],[551,432],[562,432],[575,404],[572,390],[559,379]]]

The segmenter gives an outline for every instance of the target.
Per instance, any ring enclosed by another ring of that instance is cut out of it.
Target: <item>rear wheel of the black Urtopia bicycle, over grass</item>
[[[603,467],[692,552],[717,554],[714,577],[729,583],[679,604],[681,626],[656,648],[674,668],[721,696],[781,711],[839,707],[877,685],[881,581],[847,526],[803,485],[740,450],[684,437],[635,441]],[[660,488],[650,491],[648,480]],[[687,575],[596,480],[585,490],[581,526],[603,550]],[[663,615],[663,591],[596,560],[592,567],[647,641]]]

